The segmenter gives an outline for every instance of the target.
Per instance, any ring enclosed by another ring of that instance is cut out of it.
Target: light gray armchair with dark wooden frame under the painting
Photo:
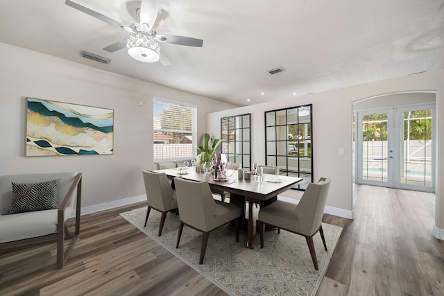
[[[48,183],[51,180],[60,180],[56,183],[55,191],[38,188],[35,184]],[[15,183],[14,209],[11,207],[13,192],[12,182]],[[17,193],[17,184],[27,189]],[[17,250],[25,245],[40,243],[42,241],[57,241],[57,265],[63,268],[69,251],[74,247],[80,234],[80,200],[82,187],[82,173],[39,173],[0,176],[0,253],[8,250]],[[40,191],[40,197],[56,194],[56,201],[52,209],[33,211],[39,207],[39,202],[33,196]],[[76,229],[71,236],[65,221],[74,211],[74,198],[76,195]],[[20,200],[18,200],[18,196]],[[29,202],[31,200],[31,202]],[[17,209],[23,207],[22,211]],[[55,208],[55,209],[54,209]],[[10,214],[15,212],[15,214]],[[65,234],[71,238],[71,243],[64,250]]]

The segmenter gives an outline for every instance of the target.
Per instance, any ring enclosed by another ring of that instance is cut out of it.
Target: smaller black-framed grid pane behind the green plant
[[[228,161],[250,168],[250,114],[221,118],[221,139]]]

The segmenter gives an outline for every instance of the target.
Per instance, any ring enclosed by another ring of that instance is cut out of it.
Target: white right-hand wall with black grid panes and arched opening
[[[444,143],[443,137],[439,137],[443,130],[441,118],[444,118],[444,70],[214,112],[208,114],[208,130],[212,134],[219,135],[220,117],[251,113],[252,163],[264,164],[264,112],[312,103],[314,180],[318,180],[319,177],[332,178],[327,206],[336,209],[336,215],[348,217],[352,212],[352,103],[382,94],[416,91],[437,92],[436,226],[444,229],[444,196],[441,196],[441,193],[444,193],[444,182],[441,182]],[[345,149],[344,156],[339,155],[339,148]],[[299,192],[293,190],[287,191],[284,195],[289,198],[300,198]]]

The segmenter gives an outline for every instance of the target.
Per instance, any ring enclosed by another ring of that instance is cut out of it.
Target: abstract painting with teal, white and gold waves
[[[110,155],[114,110],[26,98],[26,156]]]

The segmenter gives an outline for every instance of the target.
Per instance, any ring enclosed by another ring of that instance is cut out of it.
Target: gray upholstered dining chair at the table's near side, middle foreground
[[[238,206],[214,200],[207,182],[194,182],[180,177],[174,178],[174,182],[176,183],[180,218],[176,248],[179,247],[184,225],[202,232],[199,264],[203,263],[208,238],[212,230],[234,221],[236,242],[239,242],[241,209]]]

